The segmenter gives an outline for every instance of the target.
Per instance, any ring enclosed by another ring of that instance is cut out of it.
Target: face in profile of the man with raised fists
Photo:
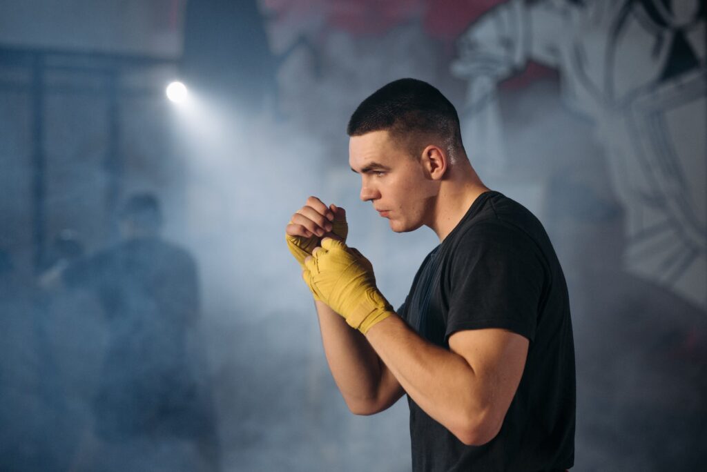
[[[388,131],[351,136],[349,165],[361,175],[361,200],[373,203],[390,229],[413,231],[431,223],[438,183]]]

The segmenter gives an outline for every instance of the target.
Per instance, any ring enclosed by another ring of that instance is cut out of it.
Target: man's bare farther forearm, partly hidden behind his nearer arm
[[[324,302],[315,305],[329,370],[349,409],[367,415],[395,403],[402,388],[366,338]]]

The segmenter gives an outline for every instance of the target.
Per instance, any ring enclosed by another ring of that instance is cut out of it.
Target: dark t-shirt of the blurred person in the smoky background
[[[187,343],[199,308],[192,256],[156,237],[126,240],[74,262],[63,279],[94,290],[107,318],[110,338],[93,402],[98,435],[208,431],[199,352]]]

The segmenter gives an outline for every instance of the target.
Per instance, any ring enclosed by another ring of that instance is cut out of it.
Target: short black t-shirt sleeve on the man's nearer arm
[[[545,281],[537,244],[498,220],[474,225],[460,237],[450,261],[445,339],[464,329],[508,329],[530,341]]]

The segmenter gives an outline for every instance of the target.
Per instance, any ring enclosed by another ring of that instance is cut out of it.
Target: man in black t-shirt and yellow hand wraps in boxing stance
[[[348,134],[361,199],[393,231],[426,225],[440,245],[396,312],[344,243],[343,208],[310,197],[287,225],[346,404],[368,415],[407,394],[415,471],[573,466],[569,302],[542,225],[484,186],[455,108],[427,83],[385,85]]]

